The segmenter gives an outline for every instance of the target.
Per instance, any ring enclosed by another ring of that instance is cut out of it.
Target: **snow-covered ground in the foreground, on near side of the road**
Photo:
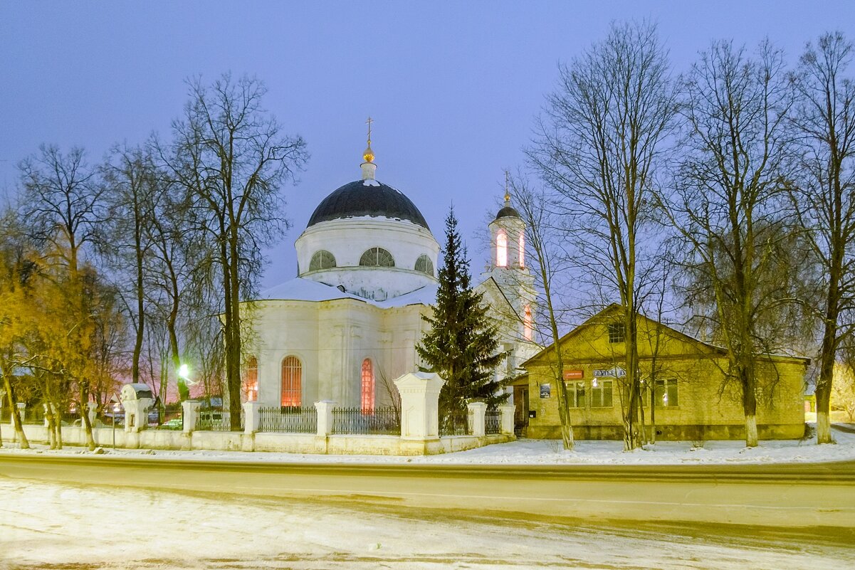
[[[766,532],[635,528],[325,502],[53,485],[0,474],[3,570],[826,570],[840,543]]]

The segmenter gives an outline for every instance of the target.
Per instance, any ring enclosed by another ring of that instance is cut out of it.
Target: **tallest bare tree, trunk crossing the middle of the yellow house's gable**
[[[588,270],[620,299],[628,407],[624,447],[641,444],[637,315],[646,214],[676,112],[665,50],[649,23],[614,24],[608,38],[561,68],[539,138],[528,151],[563,195]]]

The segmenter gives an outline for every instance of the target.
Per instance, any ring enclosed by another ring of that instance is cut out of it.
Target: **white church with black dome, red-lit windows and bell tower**
[[[299,236],[298,275],[248,303],[244,397],[262,406],[330,400],[370,410],[392,403],[392,380],[418,370],[437,291],[440,246],[416,205],[374,177],[371,150],[362,178],[318,204]],[[510,358],[504,378],[533,356],[534,279],[525,267],[525,226],[510,197],[489,225],[492,261],[477,291]],[[443,235],[439,235],[443,239]]]

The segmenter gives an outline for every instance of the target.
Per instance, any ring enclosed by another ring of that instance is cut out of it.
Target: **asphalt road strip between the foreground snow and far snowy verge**
[[[0,455],[0,475],[53,484],[360,503],[401,512],[824,529],[855,541],[855,461],[495,467],[10,454]]]

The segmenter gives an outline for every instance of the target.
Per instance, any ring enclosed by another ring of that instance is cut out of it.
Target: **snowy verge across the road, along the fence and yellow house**
[[[445,455],[416,457],[384,455],[308,455],[293,453],[244,453],[241,451],[103,450],[103,456],[150,457],[198,461],[275,461],[310,463],[445,463],[501,465],[677,465],[692,463],[764,463],[855,460],[855,433],[833,431],[837,444],[817,445],[816,438],[805,440],[762,441],[746,448],[741,441],[708,441],[703,447],[691,442],[660,442],[643,450],[624,452],[622,442],[579,441],[575,450],[565,451],[561,442],[545,439],[520,439],[510,444],[494,444],[475,450]],[[79,447],[48,450],[43,445],[33,450],[18,450],[5,444],[0,453],[41,453],[75,455],[90,453]]]

